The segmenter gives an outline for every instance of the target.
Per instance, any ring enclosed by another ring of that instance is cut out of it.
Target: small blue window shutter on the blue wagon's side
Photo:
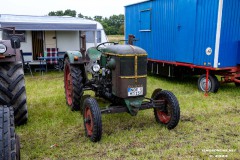
[[[151,31],[151,9],[140,11],[140,31]]]

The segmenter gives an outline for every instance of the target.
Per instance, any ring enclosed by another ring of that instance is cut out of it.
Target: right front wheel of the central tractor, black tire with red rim
[[[180,107],[177,98],[170,91],[156,91],[152,94],[154,100],[165,100],[163,111],[154,108],[154,116],[158,123],[164,124],[169,130],[175,128],[180,120]]]

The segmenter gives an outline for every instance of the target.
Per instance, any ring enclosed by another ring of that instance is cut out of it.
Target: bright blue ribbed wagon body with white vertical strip
[[[125,6],[125,35],[149,59],[226,68],[240,64],[240,0],[150,0]]]

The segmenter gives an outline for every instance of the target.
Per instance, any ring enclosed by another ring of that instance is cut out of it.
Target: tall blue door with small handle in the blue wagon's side
[[[178,0],[176,61],[193,63],[197,0]]]

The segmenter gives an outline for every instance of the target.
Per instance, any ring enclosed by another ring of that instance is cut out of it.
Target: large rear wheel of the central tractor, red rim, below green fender
[[[83,95],[83,77],[79,65],[70,64],[69,59],[64,61],[64,89],[67,105],[72,111],[80,109],[80,100]]]

